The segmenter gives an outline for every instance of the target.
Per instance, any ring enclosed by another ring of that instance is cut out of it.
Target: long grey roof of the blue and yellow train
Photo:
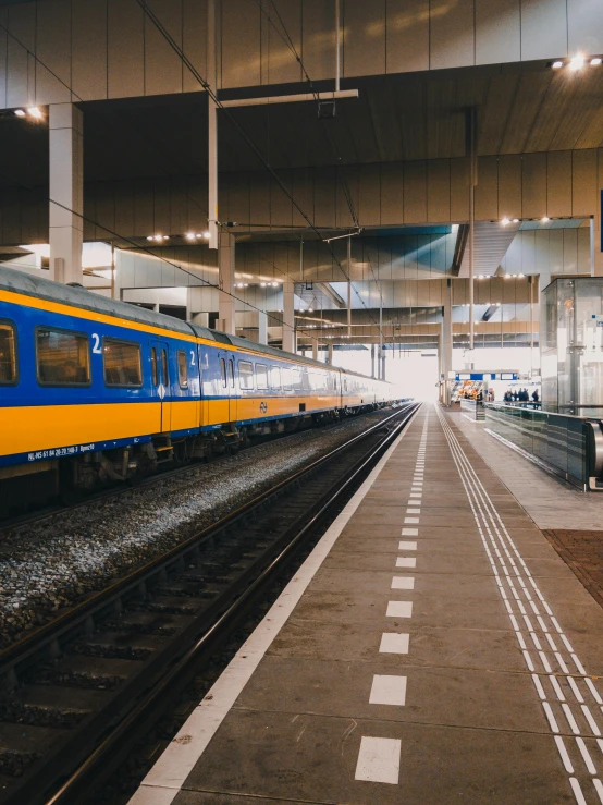
[[[216,341],[217,343],[237,346],[243,350],[253,350],[254,352],[280,358],[281,361],[283,358],[290,358],[296,363],[316,366],[321,369],[336,368],[330,367],[320,363],[320,361],[315,361],[313,358],[285,352],[276,346],[259,344],[256,341],[239,338],[238,336],[229,336],[225,332],[211,330],[208,327],[188,324],[187,321],[182,321],[182,319],[176,319],[173,316],[168,316],[163,313],[155,313],[155,310],[147,310],[145,307],[138,307],[137,305],[133,305],[127,302],[107,298],[107,296],[101,296],[100,294],[94,293],[94,291],[88,291],[85,288],[63,285],[58,282],[53,282],[52,280],[47,280],[44,277],[34,277],[33,275],[19,271],[14,268],[0,266],[0,288],[15,293],[22,293],[27,296],[48,300],[49,302],[73,305],[73,307],[91,310],[93,313],[116,316],[130,321],[136,321],[140,325],[161,327],[165,330],[172,330],[173,332],[180,332],[186,336],[190,336],[190,332],[193,332],[198,338],[206,339],[207,341]],[[366,375],[360,375],[357,371],[345,369],[345,373],[347,375],[357,375],[358,377],[366,378]]]

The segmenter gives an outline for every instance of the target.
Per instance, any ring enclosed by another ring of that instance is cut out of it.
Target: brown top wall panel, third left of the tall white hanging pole
[[[108,0],[108,97],[145,94],[145,21],[140,7],[128,0]]]

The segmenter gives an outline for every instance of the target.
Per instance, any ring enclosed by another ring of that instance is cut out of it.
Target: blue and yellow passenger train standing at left
[[[0,511],[40,484],[93,489],[392,397],[383,381],[0,268]]]

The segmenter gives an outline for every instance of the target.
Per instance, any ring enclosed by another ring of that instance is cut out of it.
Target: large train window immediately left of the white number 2
[[[38,327],[36,364],[41,386],[89,386],[89,339],[83,332]]]

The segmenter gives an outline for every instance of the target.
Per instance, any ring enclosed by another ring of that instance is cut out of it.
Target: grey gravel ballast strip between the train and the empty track
[[[283,437],[0,533],[0,647],[391,414]]]

